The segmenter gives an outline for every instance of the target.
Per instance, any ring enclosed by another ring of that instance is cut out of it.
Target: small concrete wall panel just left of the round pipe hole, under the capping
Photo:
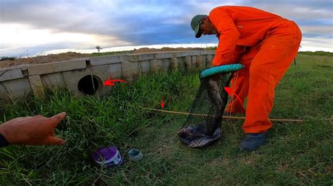
[[[41,83],[43,83],[45,88],[66,87],[63,73],[60,72],[41,75]]]

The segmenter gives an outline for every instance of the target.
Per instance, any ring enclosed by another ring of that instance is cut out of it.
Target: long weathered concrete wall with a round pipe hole
[[[25,99],[32,93],[44,96],[47,88],[66,88],[77,96],[105,95],[112,89],[103,85],[110,76],[131,81],[160,70],[208,68],[214,55],[214,51],[206,50],[150,52],[1,68],[0,99]]]

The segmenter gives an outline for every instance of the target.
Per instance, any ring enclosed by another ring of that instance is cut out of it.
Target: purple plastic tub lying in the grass
[[[105,166],[119,165],[122,163],[122,156],[117,148],[111,145],[93,152],[93,161]]]

